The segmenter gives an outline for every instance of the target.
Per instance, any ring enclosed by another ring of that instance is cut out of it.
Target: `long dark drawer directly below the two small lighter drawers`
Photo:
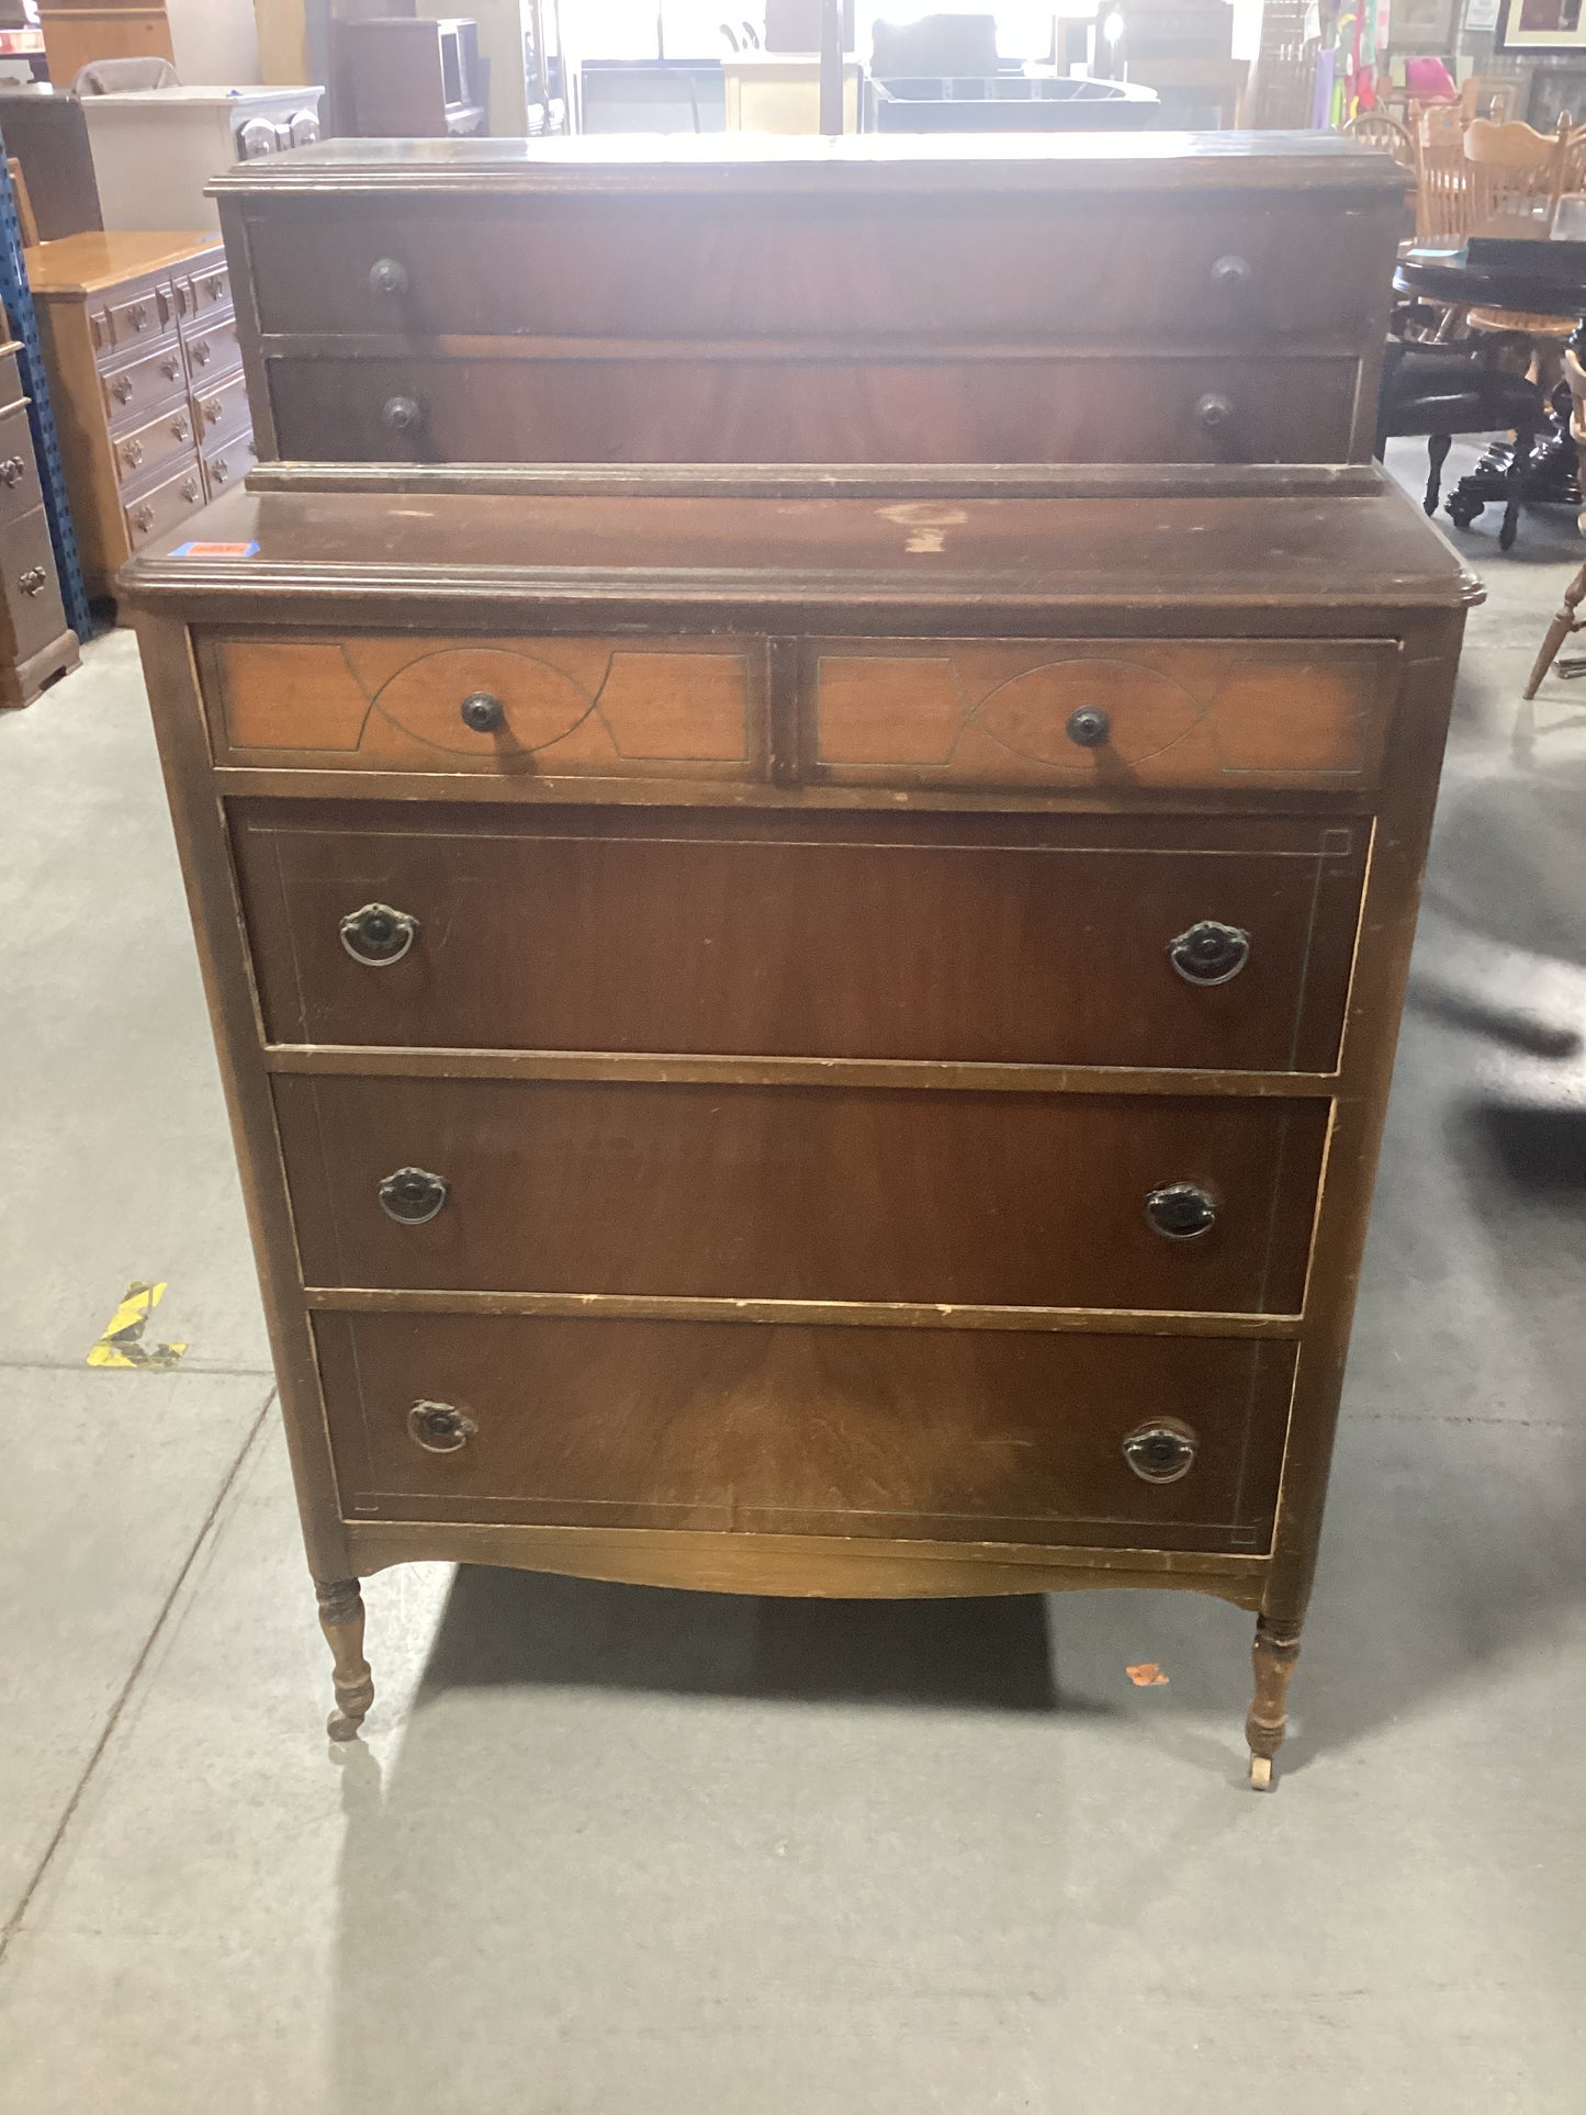
[[[233,842],[277,1043],[1326,1072],[1368,829],[292,799]],[[1167,952],[1207,922],[1227,981]]]

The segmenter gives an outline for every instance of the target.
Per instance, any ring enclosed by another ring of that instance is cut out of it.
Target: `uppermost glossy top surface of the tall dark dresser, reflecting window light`
[[[330,140],[237,163],[211,197],[294,192],[1402,192],[1336,133],[689,133],[571,140]]]

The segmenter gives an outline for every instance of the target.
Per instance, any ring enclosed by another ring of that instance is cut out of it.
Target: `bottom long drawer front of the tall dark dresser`
[[[315,1316],[343,1510],[1265,1548],[1294,1351],[1216,1337]],[[474,1428],[412,1438],[419,1402]],[[1125,1459],[1161,1419],[1188,1470]]]

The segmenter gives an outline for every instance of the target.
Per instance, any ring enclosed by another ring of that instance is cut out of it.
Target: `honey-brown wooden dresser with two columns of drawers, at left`
[[[27,279],[89,594],[254,461],[226,256],[211,235],[40,243]]]

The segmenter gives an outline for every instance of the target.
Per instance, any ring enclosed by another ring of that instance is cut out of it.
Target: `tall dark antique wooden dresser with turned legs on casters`
[[[1265,1785],[1474,596],[1402,180],[620,148],[224,178],[266,461],[123,575],[332,1734],[404,1559],[1182,1586]]]

